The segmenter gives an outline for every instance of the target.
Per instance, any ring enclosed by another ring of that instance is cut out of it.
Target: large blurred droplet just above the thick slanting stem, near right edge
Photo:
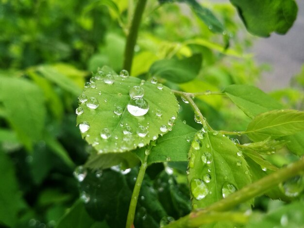
[[[304,189],[304,178],[303,176],[295,176],[287,179],[279,184],[279,188],[288,197],[298,196]]]

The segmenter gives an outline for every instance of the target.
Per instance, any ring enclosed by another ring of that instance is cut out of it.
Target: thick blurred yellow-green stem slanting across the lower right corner
[[[253,197],[262,195],[269,191],[271,188],[277,186],[280,182],[283,182],[296,175],[304,172],[304,156],[297,162],[287,165],[262,179],[253,182],[250,185],[242,188],[241,190],[229,195],[227,198],[211,204],[203,210],[191,212],[185,217],[170,223],[164,228],[194,228],[203,224],[203,218],[210,212],[223,212],[229,209],[233,209],[236,205],[246,202]],[[201,222],[200,222],[201,221]]]

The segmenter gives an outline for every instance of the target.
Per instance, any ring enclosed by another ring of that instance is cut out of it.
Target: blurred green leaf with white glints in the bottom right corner
[[[246,228],[288,227],[300,228],[304,224],[304,202],[292,202],[263,216],[252,216]]]

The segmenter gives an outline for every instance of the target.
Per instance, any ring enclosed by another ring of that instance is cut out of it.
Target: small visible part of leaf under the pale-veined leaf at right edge
[[[302,156],[304,154],[304,131],[283,137],[287,141],[287,148],[290,152]]]

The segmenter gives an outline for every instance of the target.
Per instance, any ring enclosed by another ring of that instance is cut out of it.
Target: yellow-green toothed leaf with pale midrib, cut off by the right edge
[[[259,114],[247,127],[246,134],[253,141],[273,139],[304,130],[304,112],[297,110],[273,110]]]

